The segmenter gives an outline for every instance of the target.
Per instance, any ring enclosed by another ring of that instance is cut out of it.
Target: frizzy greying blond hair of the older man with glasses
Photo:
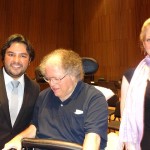
[[[57,58],[57,62],[53,62],[54,60],[56,61],[55,58]],[[45,69],[50,62],[59,63],[68,74],[75,76],[77,80],[83,79],[82,59],[76,52],[62,48],[50,52],[42,59],[39,65],[43,76],[45,76]]]

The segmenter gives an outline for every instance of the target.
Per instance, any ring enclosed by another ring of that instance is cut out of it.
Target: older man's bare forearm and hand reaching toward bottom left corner
[[[21,150],[21,141],[23,138],[34,138],[36,134],[36,127],[30,125],[27,129],[22,131],[20,134],[15,136],[12,140],[5,144],[3,150],[9,150],[14,148],[16,150]]]

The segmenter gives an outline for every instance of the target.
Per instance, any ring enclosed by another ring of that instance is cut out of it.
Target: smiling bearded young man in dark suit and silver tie
[[[1,48],[3,67],[0,70],[0,149],[26,129],[31,121],[40,89],[25,72],[34,56],[34,49],[29,41],[20,34],[11,35]],[[17,93],[13,95],[12,81],[18,82]],[[12,108],[13,104],[15,108]]]

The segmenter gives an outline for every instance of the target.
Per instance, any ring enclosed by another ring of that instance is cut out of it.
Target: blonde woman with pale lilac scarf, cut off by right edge
[[[140,33],[145,58],[122,79],[119,149],[148,150],[150,147],[150,18]]]

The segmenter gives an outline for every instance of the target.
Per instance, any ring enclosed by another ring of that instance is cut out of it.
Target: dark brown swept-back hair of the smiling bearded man
[[[26,45],[26,50],[29,54],[29,57],[30,57],[30,60],[33,61],[34,60],[34,57],[35,57],[35,52],[34,52],[34,49],[32,47],[32,45],[30,44],[30,42],[28,41],[28,39],[26,39],[23,35],[21,34],[13,34],[11,35],[6,43],[2,46],[1,48],[1,56],[2,56],[2,61],[4,60],[4,57],[5,57],[5,53],[6,53],[6,50],[13,44],[13,43],[23,43]]]

